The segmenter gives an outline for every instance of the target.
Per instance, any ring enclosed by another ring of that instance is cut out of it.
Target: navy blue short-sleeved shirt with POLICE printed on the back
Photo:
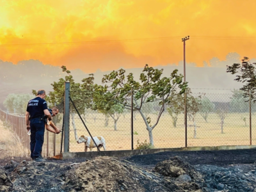
[[[44,118],[44,110],[47,109],[47,103],[44,99],[36,97],[28,102],[27,111],[29,112],[30,118]]]

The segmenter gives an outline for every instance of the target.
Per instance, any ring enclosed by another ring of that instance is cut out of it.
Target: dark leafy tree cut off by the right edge
[[[227,65],[227,72],[234,75],[236,74],[237,82],[243,83],[240,89],[243,91],[243,97],[247,98],[252,96],[252,100],[256,101],[256,63],[250,63],[248,57],[244,57],[242,63],[234,63],[232,66]],[[250,93],[251,92],[251,93]]]

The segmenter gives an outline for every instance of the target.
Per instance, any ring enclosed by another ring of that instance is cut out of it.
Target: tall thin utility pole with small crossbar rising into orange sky
[[[186,40],[189,40],[189,36],[186,36],[182,38],[183,42],[183,52],[184,52],[184,82],[186,82]],[[187,124],[187,90],[185,91],[184,95],[184,105],[185,105],[185,111],[184,111],[184,118],[185,118],[185,147],[188,147],[188,124]]]

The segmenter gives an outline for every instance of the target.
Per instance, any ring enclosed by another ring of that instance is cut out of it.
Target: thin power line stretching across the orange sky
[[[148,42],[158,40],[180,40],[182,36],[163,36],[155,38],[132,38],[122,40],[95,40],[81,42],[48,42],[48,43],[33,43],[33,44],[0,44],[0,47],[12,46],[33,46],[33,45],[81,45],[81,44],[109,44],[118,42]],[[192,36],[194,40],[256,40],[256,36]]]

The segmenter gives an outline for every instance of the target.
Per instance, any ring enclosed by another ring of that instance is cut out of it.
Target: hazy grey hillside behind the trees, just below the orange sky
[[[186,80],[191,88],[208,88],[208,89],[232,89],[240,88],[241,84],[234,81],[235,76],[227,74],[226,65],[232,65],[234,62],[239,62],[238,56],[233,55],[233,58],[227,61],[220,61],[218,58],[212,58],[209,64],[205,62],[205,67],[191,67],[193,64],[188,64],[186,68]],[[207,67],[211,65],[214,67]],[[195,66],[195,65],[194,65]],[[180,74],[183,74],[182,62],[179,66],[168,65],[158,66],[163,68],[163,76],[170,76],[171,72],[177,68]],[[139,79],[143,68],[127,68],[127,74],[133,73],[136,80]],[[104,74],[109,72],[95,72],[95,83],[100,84]],[[71,71],[72,76],[76,81],[81,81],[84,77],[88,77],[82,70],[76,69]],[[64,77],[60,67],[52,65],[44,65],[38,60],[20,61],[17,65],[11,62],[0,60],[0,107],[3,108],[3,100],[9,93],[31,93],[31,90],[45,89],[47,92],[52,90],[51,83],[58,81]],[[216,92],[216,90],[212,90]],[[227,91],[230,93],[230,91]]]

